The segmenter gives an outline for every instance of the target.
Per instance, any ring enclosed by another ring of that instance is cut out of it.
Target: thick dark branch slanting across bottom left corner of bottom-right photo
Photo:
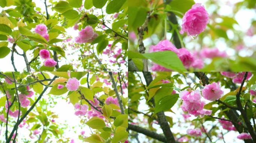
[[[154,131],[147,130],[146,128],[139,127],[137,125],[128,124],[128,130],[136,131],[146,136],[152,137],[153,139],[159,140],[164,143],[168,143],[164,136],[157,134]]]

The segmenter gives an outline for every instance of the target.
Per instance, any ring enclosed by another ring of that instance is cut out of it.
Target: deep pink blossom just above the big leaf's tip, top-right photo
[[[188,69],[194,62],[192,54],[186,48],[180,48],[178,56],[186,69]]]

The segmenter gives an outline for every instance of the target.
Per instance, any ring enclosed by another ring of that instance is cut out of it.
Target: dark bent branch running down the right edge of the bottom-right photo
[[[239,111],[241,112],[241,115],[244,118],[244,122],[245,122],[245,124],[246,124],[246,126],[248,128],[248,131],[249,131],[250,135],[252,136],[253,142],[256,142],[256,135],[255,135],[255,133],[253,131],[253,127],[252,127],[252,125],[251,125],[251,123],[250,123],[250,121],[249,121],[249,119],[247,117],[247,113],[244,111],[243,106],[242,106],[242,104],[240,102],[240,95],[241,95],[241,91],[242,91],[244,82],[246,80],[247,74],[248,74],[248,72],[246,72],[244,74],[244,79],[243,79],[243,81],[241,83],[241,86],[240,86],[240,89],[239,89],[239,91],[237,92],[237,95],[236,95],[236,97],[237,97],[236,102],[237,102],[237,107],[238,107]]]

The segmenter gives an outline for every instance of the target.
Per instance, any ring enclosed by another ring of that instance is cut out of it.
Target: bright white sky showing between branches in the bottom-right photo
[[[141,76],[141,79],[144,83],[144,85],[146,85],[146,81],[144,80],[143,78],[143,74],[142,73],[139,73],[140,76]],[[177,74],[177,72],[173,72],[172,75],[175,75]],[[189,74],[191,77],[194,77],[194,74],[193,73],[190,73]],[[140,80],[139,78],[137,80]],[[182,82],[184,83],[183,85],[179,86],[178,84],[176,85],[177,88],[185,88],[187,85],[186,85],[186,81],[184,79],[184,77],[181,78]],[[190,82],[190,83],[193,83],[191,79],[187,78],[187,81]],[[199,83],[199,80],[196,79],[196,82]],[[194,84],[192,84],[191,86],[193,87]],[[200,88],[197,88],[198,90],[200,90]],[[225,95],[226,93],[229,93],[230,90],[229,89],[225,89],[224,87],[221,88],[223,91],[224,91],[224,94]],[[177,92],[178,93],[178,92]],[[142,98],[141,98],[142,99]],[[205,100],[204,98],[201,98],[202,101],[205,101],[205,104],[209,103],[210,101],[208,100]],[[194,128],[195,126],[191,126],[191,124],[189,123],[181,123],[181,124],[177,124],[178,121],[180,122],[184,122],[184,118],[182,116],[182,113],[184,113],[182,111],[182,109],[179,107],[179,103],[181,102],[180,99],[178,99],[177,103],[171,108],[171,110],[173,112],[175,112],[176,114],[172,113],[172,112],[165,112],[165,115],[169,116],[169,117],[172,117],[173,118],[173,127],[171,128],[171,131],[176,134],[176,133],[180,133],[182,135],[186,135],[186,130],[189,129],[189,128]],[[216,106],[217,107],[217,106]],[[140,104],[138,106],[138,109],[140,109],[141,112],[144,112],[146,113],[147,110],[149,109],[148,106],[146,105],[146,100],[143,99],[143,100],[140,100]],[[217,112],[218,113],[218,112]],[[217,117],[217,113],[215,114],[215,117]],[[142,114],[138,114],[138,119],[140,119],[140,121],[143,121],[143,115]],[[193,115],[191,115],[191,117],[189,117],[189,121],[192,121],[196,119],[196,117],[194,117]],[[136,121],[136,120],[134,120]],[[200,124],[199,121],[197,124]],[[244,143],[243,140],[239,140],[237,139],[236,137],[239,135],[239,133],[237,131],[227,131],[225,129],[222,128],[222,126],[219,124],[219,122],[216,120],[214,122],[212,121],[206,121],[204,122],[204,127],[205,127],[205,130],[210,130],[210,128],[213,126],[213,125],[216,125],[218,127],[220,127],[220,129],[222,129],[223,131],[223,134],[224,134],[224,139],[225,139],[225,142],[226,143]],[[143,127],[143,124],[139,124],[141,127]],[[180,126],[179,126],[180,125]],[[144,125],[145,128],[148,128],[148,125],[146,123],[146,125]],[[153,127],[157,129],[157,133],[159,134],[162,134],[162,129],[160,128],[159,125],[157,124],[153,124]],[[200,126],[198,126],[200,127]],[[216,131],[216,128],[214,129]],[[220,130],[218,130],[220,131]],[[228,133],[227,133],[228,132]],[[219,132],[221,133],[221,132]],[[226,133],[226,134],[225,134]],[[204,133],[202,133],[203,136],[205,136]],[[140,142],[143,142],[145,141],[145,136],[143,134],[139,134],[139,139],[140,139]],[[177,138],[179,138],[180,136],[177,136]],[[215,142],[217,140],[217,137],[211,137],[212,141]],[[208,139],[207,139],[208,140]],[[209,140],[208,140],[209,141]],[[191,143],[191,142],[189,142]],[[198,143],[198,142],[195,142],[195,143]],[[223,140],[218,140],[216,143],[223,143]]]

